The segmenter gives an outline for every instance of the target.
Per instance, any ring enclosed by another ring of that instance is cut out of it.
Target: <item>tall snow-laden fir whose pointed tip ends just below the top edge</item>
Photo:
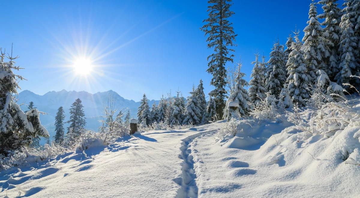
[[[325,61],[330,55],[327,45],[325,45],[325,36],[327,35],[318,21],[317,14],[315,3],[311,3],[309,21],[307,21],[307,26],[303,30],[305,34],[302,39],[304,42],[302,51],[304,51],[307,70],[311,77],[309,82],[311,83],[314,83],[316,79],[315,73],[318,69],[328,71]]]

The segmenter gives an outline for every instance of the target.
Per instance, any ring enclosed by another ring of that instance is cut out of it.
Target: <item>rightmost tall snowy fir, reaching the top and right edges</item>
[[[360,85],[357,78],[350,77],[351,75],[358,75],[359,70],[359,62],[356,60],[356,57],[359,55],[359,51],[357,50],[358,40],[354,35],[354,24],[351,21],[354,14],[353,4],[354,1],[347,1],[345,3],[346,7],[343,9],[344,14],[341,17],[340,27],[342,33],[339,44],[340,64],[339,72],[335,77],[337,83],[345,86],[346,89],[349,89],[346,85],[349,82],[356,88]]]

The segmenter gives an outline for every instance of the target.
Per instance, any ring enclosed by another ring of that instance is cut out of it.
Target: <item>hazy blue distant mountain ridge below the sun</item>
[[[100,127],[99,120],[102,120],[103,104],[107,102],[109,95],[116,98],[116,105],[120,106],[120,108],[127,108],[130,110],[131,118],[137,117],[136,114],[140,102],[125,99],[113,90],[91,94],[86,91],[66,91],[63,89],[61,91],[49,91],[44,95],[38,95],[29,90],[24,90],[17,96],[17,103],[29,104],[29,102],[32,101],[39,111],[47,113],[46,115],[40,115],[40,121],[46,129],[48,129],[51,136],[50,139],[52,139],[55,129],[55,116],[59,107],[64,108],[66,115],[65,121],[67,121],[70,116],[69,108],[71,107],[71,104],[77,98],[80,98],[82,105],[84,106],[87,123],[86,128],[96,131]],[[154,102],[158,104],[159,100],[149,100],[150,107]],[[27,105],[21,105],[21,109],[26,111]],[[67,127],[68,125],[65,124],[64,126]]]

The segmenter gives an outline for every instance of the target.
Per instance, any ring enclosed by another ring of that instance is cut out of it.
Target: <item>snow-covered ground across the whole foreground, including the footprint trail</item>
[[[136,133],[6,170],[0,197],[359,197],[360,166],[339,154],[359,152],[359,127],[303,139],[287,121],[243,120],[243,135],[224,138],[225,125]]]

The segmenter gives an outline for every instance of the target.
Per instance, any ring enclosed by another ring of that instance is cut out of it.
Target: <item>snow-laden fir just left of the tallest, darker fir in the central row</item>
[[[200,117],[201,112],[199,108],[199,99],[196,96],[195,87],[193,86],[193,91],[190,92],[190,96],[188,97],[188,102],[185,107],[185,118],[183,123],[185,125],[199,125],[201,123]]]

